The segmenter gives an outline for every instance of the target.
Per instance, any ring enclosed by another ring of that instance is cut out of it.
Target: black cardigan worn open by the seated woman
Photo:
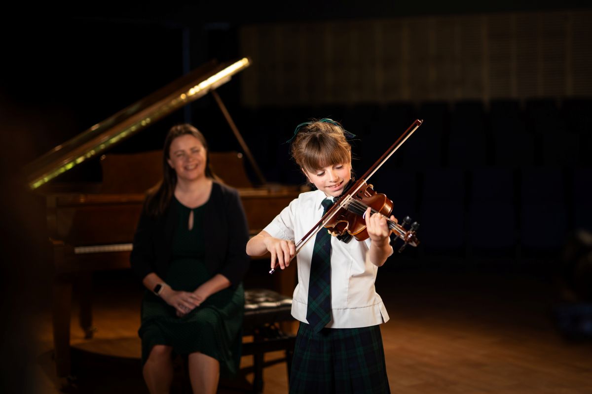
[[[242,281],[249,268],[246,245],[249,229],[239,193],[226,185],[214,182],[204,215],[205,264],[212,275],[221,273],[233,286]],[[146,214],[146,207],[134,235],[131,268],[139,279],[155,272],[166,277],[179,210],[176,204],[159,217]]]

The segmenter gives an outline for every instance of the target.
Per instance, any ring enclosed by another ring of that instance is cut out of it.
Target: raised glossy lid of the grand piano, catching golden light
[[[150,123],[226,83],[249,64],[247,57],[225,64],[210,61],[185,74],[31,162],[24,169],[28,186],[35,190],[81,162],[101,154]]]

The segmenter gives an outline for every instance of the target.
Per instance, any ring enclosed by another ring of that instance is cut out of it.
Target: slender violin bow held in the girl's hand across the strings
[[[331,219],[333,219],[333,216],[335,216],[335,214],[337,213],[337,211],[339,211],[340,208],[344,208],[345,205],[349,203],[349,200],[352,198],[353,195],[358,193],[358,190],[360,190],[362,185],[368,183],[370,177],[372,177],[372,175],[374,175],[374,173],[377,172],[378,169],[382,167],[382,165],[385,162],[387,162],[388,159],[391,158],[391,156],[397,151],[397,149],[400,148],[401,145],[405,143],[405,141],[407,141],[411,134],[413,134],[417,130],[417,128],[419,128],[419,126],[422,125],[422,123],[423,119],[416,119],[413,123],[411,123],[411,126],[409,126],[407,130],[399,136],[399,138],[397,138],[397,141],[395,141],[391,145],[391,147],[388,148],[387,151],[384,152],[384,154],[382,154],[382,156],[374,164],[372,164],[370,168],[368,168],[368,171],[366,171],[362,175],[362,177],[358,181],[356,181],[356,183],[354,183],[345,194],[343,194],[339,201],[339,204],[334,204],[327,211],[327,213],[324,214],[323,217],[321,217],[321,220],[319,220],[317,224],[315,224],[313,228],[310,229],[310,231],[306,233],[304,237],[302,237],[302,239],[298,241],[298,243],[296,243],[296,250],[294,252],[294,256],[292,256],[292,259],[296,255],[298,255],[298,252],[300,252],[300,249],[303,248],[303,246],[308,242],[308,240],[310,240],[313,237],[313,235],[316,235],[316,233],[318,233],[318,231],[323,228],[324,224],[328,223]],[[269,271],[270,275],[274,272],[275,268],[272,268]]]

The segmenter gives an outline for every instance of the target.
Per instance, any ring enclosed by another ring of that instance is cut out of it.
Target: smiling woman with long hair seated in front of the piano
[[[147,289],[139,335],[151,393],[169,392],[173,354],[187,355],[195,393],[215,393],[220,373],[239,367],[248,228],[237,191],[215,179],[202,133],[173,126],[130,258]]]

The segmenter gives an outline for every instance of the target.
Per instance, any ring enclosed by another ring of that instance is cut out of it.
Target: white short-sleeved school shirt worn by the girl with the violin
[[[323,216],[321,201],[324,198],[326,196],[320,190],[301,193],[263,230],[272,237],[298,242]],[[304,323],[308,323],[308,281],[314,238],[311,237],[296,256],[298,285],[292,298],[292,316]],[[332,319],[325,327],[369,327],[388,321],[387,310],[374,286],[378,267],[370,261],[370,244],[370,239],[358,241],[352,238],[345,243],[331,237]]]

